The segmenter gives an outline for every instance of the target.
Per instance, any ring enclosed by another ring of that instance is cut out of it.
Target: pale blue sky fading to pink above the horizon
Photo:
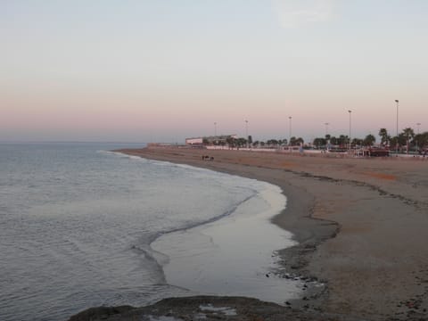
[[[427,16],[426,0],[0,0],[0,141],[379,140],[397,110],[422,133]]]

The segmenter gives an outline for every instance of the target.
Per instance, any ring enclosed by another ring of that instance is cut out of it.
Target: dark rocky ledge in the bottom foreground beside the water
[[[275,303],[251,298],[198,296],[165,299],[154,305],[142,308],[129,306],[92,308],[70,318],[70,321],[87,320],[362,321],[363,319],[292,309],[291,307],[282,307]]]

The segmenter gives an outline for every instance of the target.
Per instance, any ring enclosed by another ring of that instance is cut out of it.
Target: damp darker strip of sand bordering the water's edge
[[[289,303],[291,303],[290,307],[296,309],[321,309],[325,302],[326,288],[325,286],[320,287],[319,283],[324,283],[325,280],[318,280],[316,276],[310,275],[309,271],[304,268],[308,264],[308,254],[311,251],[314,251],[318,244],[334,237],[338,233],[339,226],[333,221],[312,218],[315,206],[315,197],[312,194],[305,191],[304,188],[287,183],[284,181],[283,177],[277,177],[276,171],[272,171],[272,169],[258,167],[257,172],[254,172],[252,170],[242,169],[241,164],[231,163],[227,163],[226,167],[218,167],[218,163],[216,161],[183,160],[174,152],[174,148],[172,149],[172,153],[167,152],[168,156],[160,155],[156,152],[159,152],[160,150],[162,151],[163,148],[159,150],[157,148],[149,148],[139,151],[125,150],[119,152],[156,161],[184,163],[186,165],[211,169],[229,175],[257,179],[259,181],[279,186],[282,193],[287,198],[287,204],[283,210],[271,218],[271,222],[292,233],[292,240],[298,244],[276,251],[280,257],[277,263],[284,268],[278,269],[276,273],[281,277],[291,279],[300,278],[305,284],[302,288],[304,292],[301,292],[300,299],[289,300]],[[154,154],[149,151],[154,151]],[[144,154],[141,154],[140,152],[144,152]],[[246,169],[250,168],[246,167]],[[317,286],[315,286],[315,284],[317,284]],[[303,300],[303,298],[305,300]]]

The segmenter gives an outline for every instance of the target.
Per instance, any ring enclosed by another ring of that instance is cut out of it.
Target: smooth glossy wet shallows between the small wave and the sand
[[[272,218],[284,209],[285,198],[276,185],[244,182],[258,192],[228,215],[161,235],[151,248],[169,258],[163,260],[168,262],[163,266],[167,283],[189,289],[190,295],[247,296],[284,306],[300,297],[303,285],[276,273],[280,268],[277,250],[294,245],[291,233],[272,224]]]

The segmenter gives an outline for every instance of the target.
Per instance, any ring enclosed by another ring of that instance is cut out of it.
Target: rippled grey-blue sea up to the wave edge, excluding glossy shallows
[[[267,207],[266,183],[107,152],[137,146],[0,144],[1,320],[192,294],[168,284],[150,244]]]

